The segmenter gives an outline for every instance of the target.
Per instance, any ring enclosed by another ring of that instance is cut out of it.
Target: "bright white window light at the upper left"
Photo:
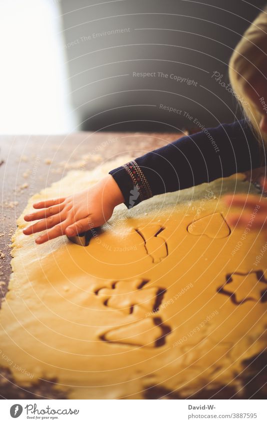
[[[57,1],[0,0],[0,134],[75,130]]]

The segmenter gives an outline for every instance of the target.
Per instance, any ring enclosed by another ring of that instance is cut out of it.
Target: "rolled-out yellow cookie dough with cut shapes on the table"
[[[229,228],[220,198],[248,192],[247,182],[235,176],[121,205],[87,247],[65,236],[37,246],[22,234],[33,201],[81,190],[116,165],[72,171],[29,199],[0,310],[0,366],[18,385],[55,380],[70,399],[234,384],[242,361],[266,344],[264,257],[254,265],[265,240]]]

